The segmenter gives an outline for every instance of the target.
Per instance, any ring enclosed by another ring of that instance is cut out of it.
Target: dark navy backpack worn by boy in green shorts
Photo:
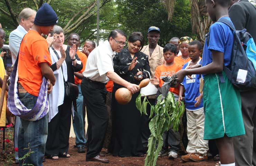
[[[250,43],[255,48],[255,43],[252,36],[246,31],[236,30],[231,22],[227,19],[221,19],[218,22],[223,22],[228,25],[232,31],[234,31],[234,42],[232,46],[231,62],[228,66],[223,66],[223,71],[226,73],[231,83],[241,91],[255,90],[256,89],[256,52],[249,51],[247,44]],[[209,46],[210,35],[206,36],[206,42]],[[250,57],[247,55],[250,54]],[[253,55],[252,55],[253,54]],[[249,57],[249,58],[248,58]],[[222,74],[220,75],[220,81],[223,83]]]

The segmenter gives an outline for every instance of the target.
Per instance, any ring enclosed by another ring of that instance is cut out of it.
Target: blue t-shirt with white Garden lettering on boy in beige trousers
[[[190,61],[191,62],[191,61]],[[182,69],[185,69],[189,63],[185,63]],[[201,64],[201,59],[197,64]],[[192,80],[185,76],[183,82],[181,83],[185,88],[185,103],[186,103],[186,109],[189,111],[196,111],[203,108],[203,99],[201,100],[200,105],[197,107],[194,106],[196,103],[195,98],[200,95],[199,93],[199,86],[200,86],[200,74],[193,74],[191,75]]]

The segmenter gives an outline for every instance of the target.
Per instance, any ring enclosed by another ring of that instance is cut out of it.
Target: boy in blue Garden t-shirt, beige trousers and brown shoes
[[[201,64],[200,54],[202,53],[202,44],[194,40],[189,44],[189,57],[191,61],[185,63],[182,69],[189,66]],[[185,91],[187,130],[189,143],[186,148],[187,155],[181,156],[181,159],[188,162],[193,160],[200,162],[207,160],[208,140],[203,139],[204,133],[204,112],[203,112],[203,93],[199,93],[200,74],[191,75],[190,79],[186,76],[180,85],[179,100],[182,100],[182,94]]]

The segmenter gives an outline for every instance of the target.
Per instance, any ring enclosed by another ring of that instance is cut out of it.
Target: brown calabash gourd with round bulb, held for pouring
[[[143,88],[143,87],[147,86],[149,82],[150,82],[149,79],[144,79],[140,82],[139,87]],[[117,102],[119,104],[123,104],[123,105],[125,105],[131,101],[131,96],[132,96],[131,91],[125,87],[119,88],[115,93],[115,98],[116,98]]]

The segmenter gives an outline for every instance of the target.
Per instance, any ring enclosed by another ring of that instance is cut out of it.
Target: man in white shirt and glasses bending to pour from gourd
[[[126,34],[119,29],[112,30],[108,41],[95,48],[88,56],[81,91],[86,103],[88,117],[88,149],[86,161],[108,163],[100,156],[104,137],[108,127],[106,101],[106,83],[113,82],[127,87],[132,93],[139,91],[139,86],[123,80],[113,69],[113,57],[126,45]]]

